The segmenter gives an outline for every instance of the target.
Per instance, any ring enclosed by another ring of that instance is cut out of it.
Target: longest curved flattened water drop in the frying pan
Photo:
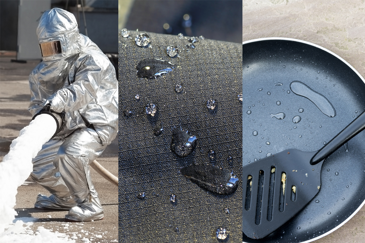
[[[303,96],[312,101],[318,107],[318,109],[328,117],[334,117],[336,115],[336,110],[331,104],[331,102],[328,101],[328,99],[324,97],[322,94],[312,90],[304,83],[299,81],[293,81],[290,84],[290,89],[296,95]]]

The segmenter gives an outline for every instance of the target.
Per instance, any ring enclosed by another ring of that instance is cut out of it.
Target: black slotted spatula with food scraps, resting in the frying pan
[[[306,206],[320,189],[325,158],[365,129],[365,111],[320,150],[287,149],[243,166],[243,233],[271,234]]]

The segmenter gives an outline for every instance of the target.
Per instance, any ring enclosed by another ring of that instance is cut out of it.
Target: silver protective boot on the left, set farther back
[[[69,210],[76,205],[77,203],[71,196],[60,198],[53,194],[49,197],[39,194],[34,208],[44,210]]]

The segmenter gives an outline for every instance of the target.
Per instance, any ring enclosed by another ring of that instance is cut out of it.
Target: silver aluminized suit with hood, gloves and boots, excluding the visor
[[[43,56],[31,72],[28,110],[35,115],[50,103],[51,111],[65,114],[65,126],[33,159],[32,178],[52,193],[38,195],[35,207],[70,209],[68,221],[101,219],[89,164],[118,132],[115,69],[95,43],[78,33],[75,17],[63,9],[43,13],[37,35],[40,46],[59,41],[62,52]]]

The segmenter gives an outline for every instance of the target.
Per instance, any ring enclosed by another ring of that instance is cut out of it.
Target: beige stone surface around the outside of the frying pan
[[[322,46],[365,77],[365,1],[243,0],[242,40],[285,37]],[[315,243],[365,242],[365,209]]]

